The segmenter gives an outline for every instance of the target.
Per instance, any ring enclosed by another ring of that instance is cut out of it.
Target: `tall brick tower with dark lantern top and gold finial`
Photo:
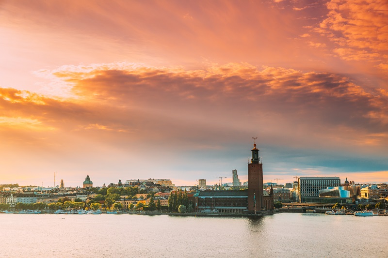
[[[256,148],[257,138],[253,139],[251,163],[248,163],[248,211],[259,212],[263,208],[263,164]]]

